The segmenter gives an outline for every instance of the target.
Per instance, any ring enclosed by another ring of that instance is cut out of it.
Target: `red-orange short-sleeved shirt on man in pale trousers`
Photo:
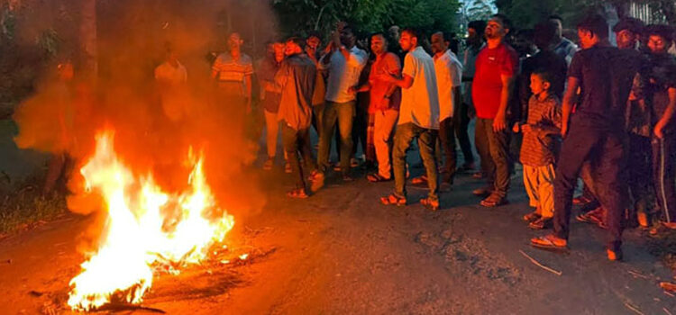
[[[389,95],[389,107],[380,108],[379,104],[382,102],[385,94],[388,93],[389,87],[392,85],[389,82],[380,80],[379,75],[388,74],[392,76],[399,76],[401,73],[401,62],[396,54],[386,52],[380,58],[376,58],[370,66],[369,84],[370,84],[370,105],[369,112],[385,111],[388,109],[399,110],[399,103],[401,103],[401,89],[396,88],[394,93]]]

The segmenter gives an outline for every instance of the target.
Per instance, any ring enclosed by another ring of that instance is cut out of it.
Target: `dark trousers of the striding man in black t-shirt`
[[[554,234],[568,238],[570,234],[572,193],[580,168],[592,161],[593,187],[601,206],[607,210],[607,246],[618,249],[622,245],[622,217],[625,209],[626,168],[624,131],[597,130],[571,124],[563,140],[561,157],[554,179]]]

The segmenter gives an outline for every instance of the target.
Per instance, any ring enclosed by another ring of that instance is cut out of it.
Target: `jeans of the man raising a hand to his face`
[[[317,158],[320,171],[322,172],[326,172],[326,169],[329,167],[331,137],[333,136],[333,130],[335,130],[336,121],[338,132],[341,135],[341,171],[343,172],[343,175],[347,175],[350,172],[354,104],[354,101],[348,103],[333,103],[326,101],[326,103],[324,103],[324,117],[322,117],[322,132],[320,132],[319,154]]]

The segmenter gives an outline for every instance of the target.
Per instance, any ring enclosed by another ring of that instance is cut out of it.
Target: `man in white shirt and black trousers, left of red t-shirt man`
[[[432,35],[434,70],[439,91],[439,140],[445,155],[442,183],[453,184],[457,165],[453,112],[461,104],[462,64],[451,49],[448,49],[449,43],[450,40],[441,31]]]

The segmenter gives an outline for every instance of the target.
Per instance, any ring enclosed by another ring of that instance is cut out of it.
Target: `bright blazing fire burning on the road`
[[[196,264],[233,228],[233,216],[215,204],[203,169],[192,150],[192,172],[183,193],[169,194],[152,175],[136,177],[114,151],[112,130],[96,136],[96,153],[80,169],[87,193],[99,193],[107,218],[96,253],[70,281],[69,306],[96,309],[115,296],[140,303],[152,284],[154,266]],[[217,219],[209,219],[223,213]]]

